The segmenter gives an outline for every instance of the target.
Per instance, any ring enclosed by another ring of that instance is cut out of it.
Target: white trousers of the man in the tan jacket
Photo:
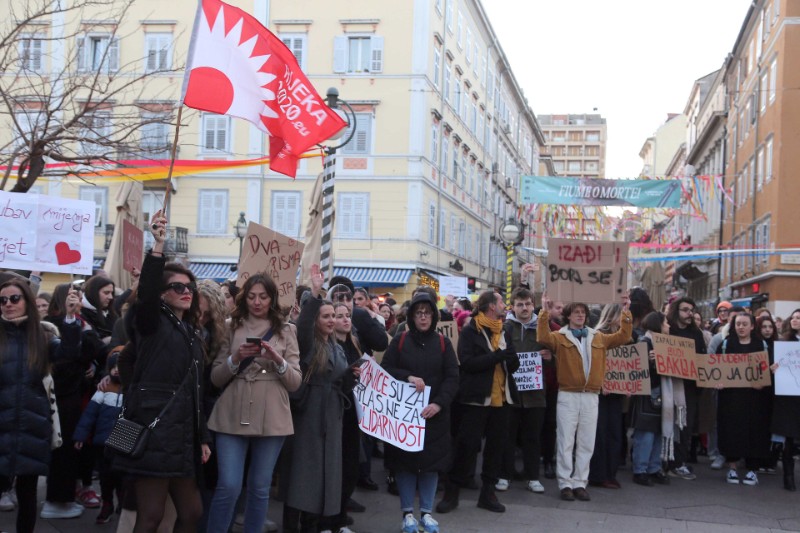
[[[598,401],[598,395],[592,392],[558,391],[556,475],[559,489],[586,488],[586,483],[589,481],[589,462],[594,453],[594,438],[597,432]]]

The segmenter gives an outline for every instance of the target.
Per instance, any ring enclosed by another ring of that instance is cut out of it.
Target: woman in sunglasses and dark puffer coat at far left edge
[[[36,524],[36,483],[47,474],[52,438],[51,410],[42,379],[50,363],[77,357],[80,300],[66,298],[61,341],[47,341],[36,301],[26,281],[0,285],[0,476],[17,477],[17,531]]]

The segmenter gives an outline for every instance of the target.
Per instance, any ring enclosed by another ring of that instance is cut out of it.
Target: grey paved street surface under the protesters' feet
[[[374,463],[378,481],[381,470]],[[622,470],[621,490],[590,488],[591,502],[562,502],[555,480],[543,479],[543,495],[523,489],[522,482],[512,483],[500,500],[507,506],[503,514],[478,509],[477,491],[462,491],[461,505],[453,513],[439,515],[444,532],[472,533],[498,531],[581,531],[623,533],[640,531],[696,531],[703,533],[800,531],[800,493],[782,488],[780,475],[762,476],[760,485],[728,485],[723,471],[708,467],[705,458],[696,465],[696,481],[672,479],[669,486],[640,487],[630,481],[630,470]],[[43,479],[43,478],[42,478]],[[40,495],[43,494],[43,484]],[[441,496],[441,493],[439,494]],[[395,533],[400,530],[398,499],[388,494],[381,483],[380,492],[357,490],[355,499],[367,506],[367,512],[354,514],[352,526],[357,533]],[[438,498],[437,498],[438,500]],[[279,503],[270,506],[270,516],[280,522]],[[39,520],[37,532],[114,531],[115,523],[94,524],[96,510],[72,520]],[[13,513],[0,514],[0,530],[13,531]]]

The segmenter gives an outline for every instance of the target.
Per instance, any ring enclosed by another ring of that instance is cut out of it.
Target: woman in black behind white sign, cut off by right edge
[[[795,309],[786,319],[788,329],[781,340],[800,341],[800,309]],[[773,372],[777,365],[772,365]],[[797,490],[794,482],[794,445],[800,439],[800,396],[775,396],[772,403],[772,432],[786,437],[783,444],[783,488]]]

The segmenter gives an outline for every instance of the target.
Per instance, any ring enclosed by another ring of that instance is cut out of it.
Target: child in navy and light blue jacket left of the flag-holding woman
[[[103,506],[97,516],[96,523],[106,524],[111,521],[114,514],[114,491],[117,492],[117,499],[122,503],[122,476],[118,472],[111,470],[111,460],[108,450],[105,450],[105,443],[114,422],[119,417],[122,410],[122,384],[119,378],[119,367],[117,359],[124,346],[117,346],[108,356],[106,368],[110,383],[105,392],[97,391],[92,396],[92,400],[86,406],[81,415],[78,426],[75,428],[73,440],[75,448],[80,450],[83,444],[91,442],[97,446],[98,450],[103,450],[100,458],[100,492],[103,498]]]

